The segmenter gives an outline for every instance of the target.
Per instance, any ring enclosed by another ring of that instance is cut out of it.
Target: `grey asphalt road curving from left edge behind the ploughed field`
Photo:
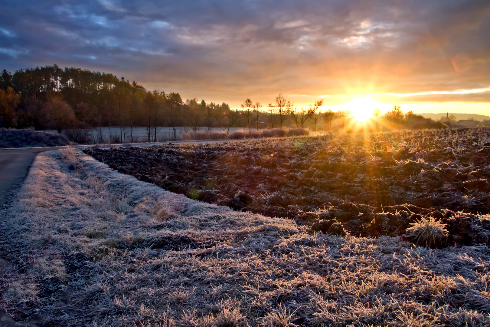
[[[145,147],[163,144],[186,144],[186,143],[221,143],[238,140],[202,140],[202,141],[174,141],[174,142],[155,142],[155,143],[135,143],[131,147]],[[94,145],[75,146],[71,148],[93,148]],[[104,148],[121,148],[123,144],[103,145]],[[8,201],[10,196],[24,182],[25,176],[29,171],[29,166],[36,154],[44,151],[66,149],[68,147],[43,147],[43,148],[16,148],[0,149],[0,207]]]

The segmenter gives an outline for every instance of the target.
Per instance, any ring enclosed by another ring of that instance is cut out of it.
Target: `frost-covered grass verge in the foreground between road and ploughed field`
[[[487,246],[312,233],[166,192],[71,150],[36,157],[0,228],[0,309],[19,320],[490,325]]]

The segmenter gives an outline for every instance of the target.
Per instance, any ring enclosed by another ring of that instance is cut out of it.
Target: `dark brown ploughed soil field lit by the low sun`
[[[422,216],[451,243],[488,243],[490,128],[94,149],[166,190],[343,235],[402,235]],[[455,218],[456,217],[456,218]],[[477,227],[473,227],[477,226]]]

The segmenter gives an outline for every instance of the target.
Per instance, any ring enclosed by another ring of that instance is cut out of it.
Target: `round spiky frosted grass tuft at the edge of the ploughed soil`
[[[410,224],[405,237],[418,246],[440,248],[445,245],[448,231],[445,224],[434,217],[422,217],[419,221]]]

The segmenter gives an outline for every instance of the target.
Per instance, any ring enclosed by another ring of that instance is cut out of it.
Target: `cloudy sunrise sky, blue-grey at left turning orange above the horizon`
[[[232,107],[282,93],[490,114],[489,40],[488,0],[0,0],[0,69],[79,67]]]

